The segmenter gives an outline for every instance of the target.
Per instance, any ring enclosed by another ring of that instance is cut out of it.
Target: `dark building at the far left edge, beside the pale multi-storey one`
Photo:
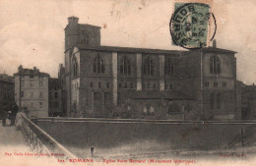
[[[11,109],[14,102],[14,78],[0,74],[0,111],[3,111],[4,107]]]

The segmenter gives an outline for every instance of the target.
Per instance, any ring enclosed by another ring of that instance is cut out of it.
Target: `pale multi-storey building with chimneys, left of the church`
[[[27,107],[30,117],[48,116],[48,80],[49,74],[33,69],[18,68],[14,74],[15,101],[21,108]]]

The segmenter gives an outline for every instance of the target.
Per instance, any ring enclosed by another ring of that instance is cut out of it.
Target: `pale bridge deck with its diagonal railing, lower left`
[[[48,159],[53,157],[55,161],[57,159],[57,161],[63,162],[77,158],[76,155],[36,126],[25,114],[22,116],[20,128],[0,126],[0,149],[0,159],[7,159],[7,161],[8,158],[17,160],[14,157],[23,157],[21,159],[24,160],[25,158],[32,159],[28,157],[47,157]]]

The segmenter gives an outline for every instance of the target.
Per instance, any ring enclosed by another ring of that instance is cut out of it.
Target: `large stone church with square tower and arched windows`
[[[113,34],[114,35],[114,34]],[[239,119],[236,52],[102,46],[100,28],[68,18],[68,117]]]

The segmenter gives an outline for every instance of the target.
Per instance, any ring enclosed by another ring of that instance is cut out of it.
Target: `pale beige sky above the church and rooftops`
[[[182,50],[169,33],[173,8],[173,0],[0,0],[0,73],[23,65],[57,77],[70,16],[101,27],[101,45]],[[254,0],[211,4],[217,46],[237,52],[237,80],[247,84],[256,83],[254,9]]]

